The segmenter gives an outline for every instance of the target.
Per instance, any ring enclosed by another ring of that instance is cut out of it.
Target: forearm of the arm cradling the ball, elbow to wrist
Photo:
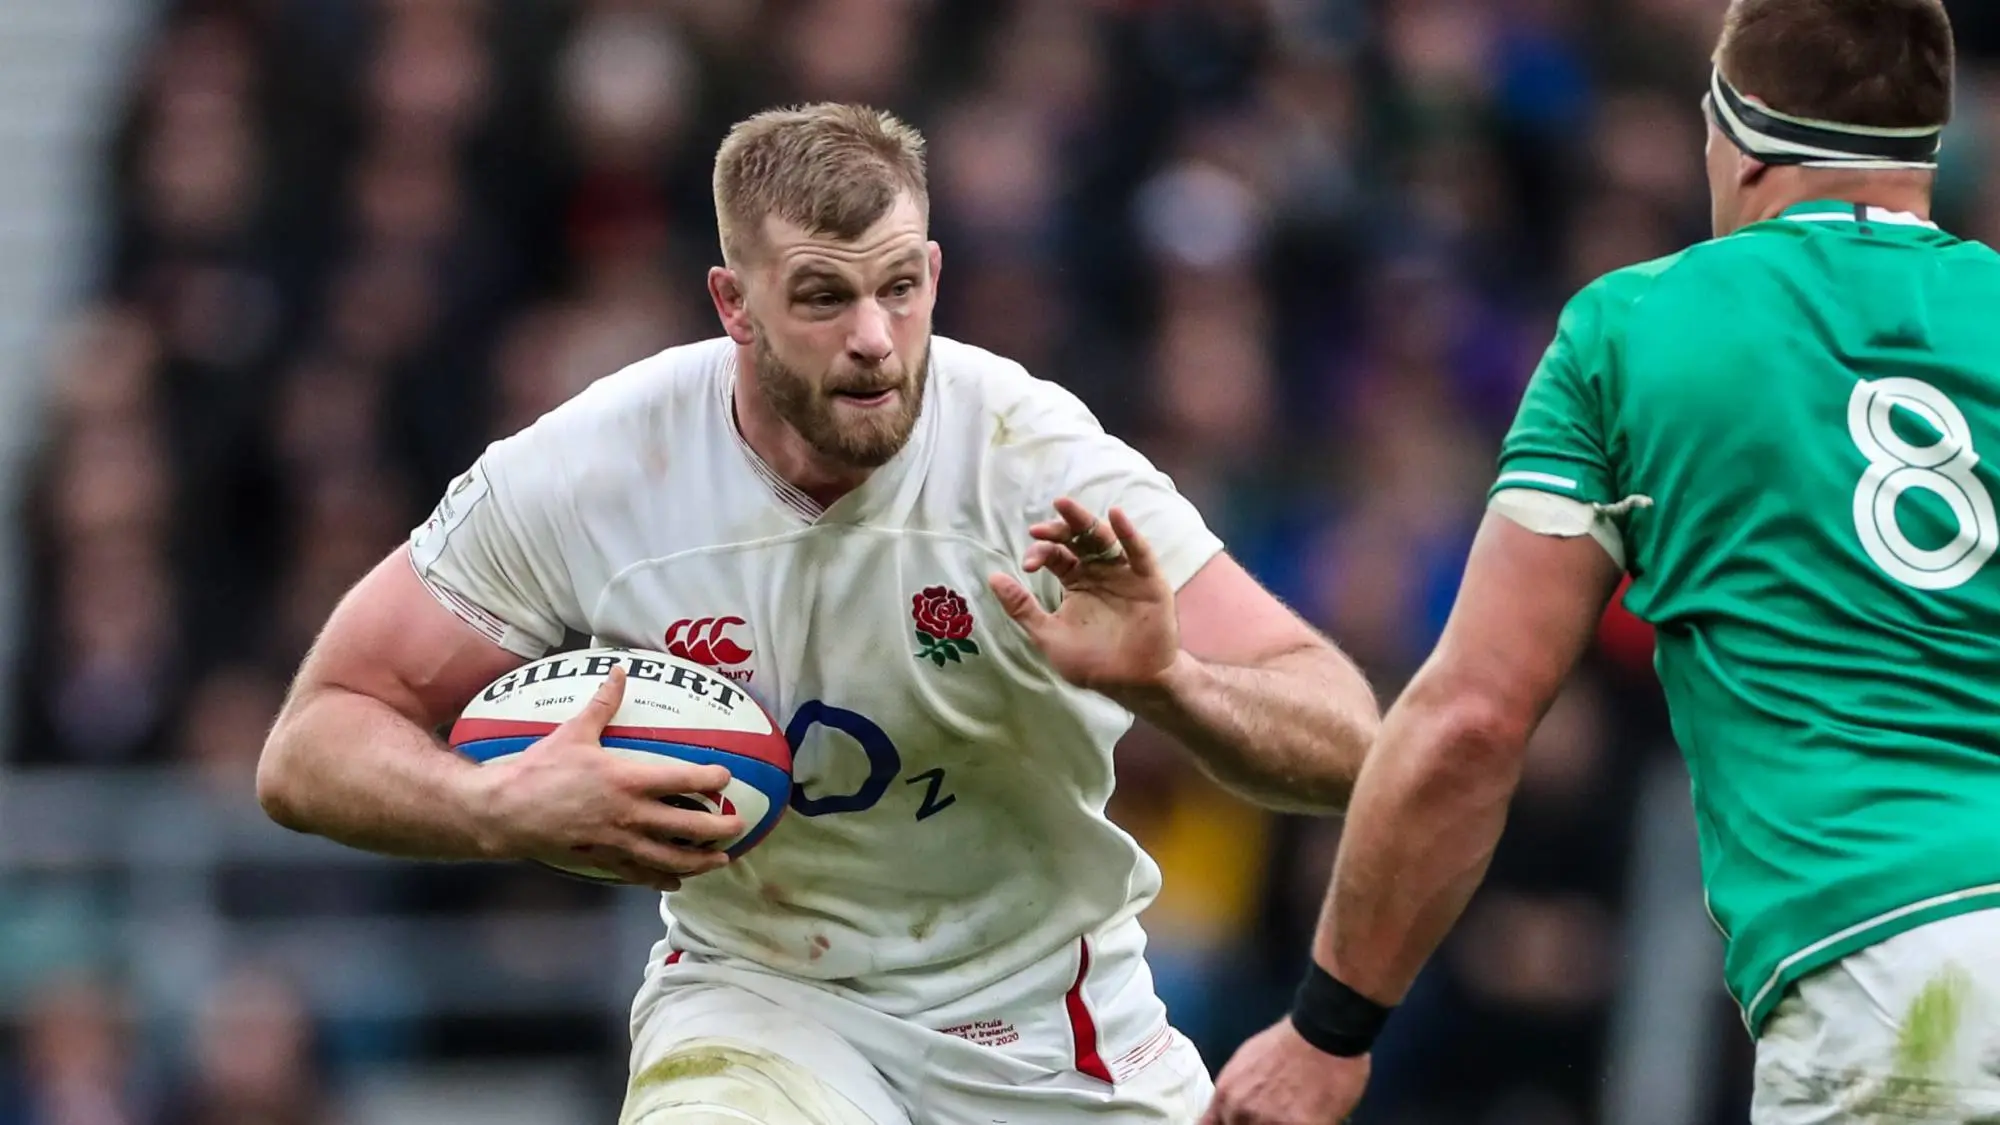
[[[486,859],[478,767],[366,695],[288,703],[258,763],[258,801],[280,825],[408,859]]]

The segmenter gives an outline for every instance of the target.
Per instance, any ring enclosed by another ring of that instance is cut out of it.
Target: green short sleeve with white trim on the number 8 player
[[[1500,446],[1494,492],[1530,488],[1592,504],[1618,500],[1604,432],[1610,364],[1604,296],[1592,286],[1564,308],[1556,338],[1528,380],[1514,428]]]

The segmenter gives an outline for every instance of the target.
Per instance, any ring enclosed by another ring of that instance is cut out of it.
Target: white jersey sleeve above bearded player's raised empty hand
[[[1068,390],[1044,386],[1036,460],[1042,464],[1040,490],[1030,496],[1028,520],[1054,516],[1058,496],[1072,496],[1096,514],[1114,506],[1152,544],[1166,581],[1178,591],[1210,558],[1222,552],[1222,538],[1208,528],[1194,502],[1174,488],[1142,452],[1104,432],[1098,418]]]

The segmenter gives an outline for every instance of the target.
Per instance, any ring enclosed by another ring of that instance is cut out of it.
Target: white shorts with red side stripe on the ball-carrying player
[[[1144,1001],[1158,1007],[1150,983]],[[1084,1069],[1110,1081],[1058,1063],[1006,1011],[928,1023],[740,963],[656,961],[632,1005],[620,1125],[1194,1125],[1214,1091],[1164,1019],[1116,1057],[1092,1055]]]

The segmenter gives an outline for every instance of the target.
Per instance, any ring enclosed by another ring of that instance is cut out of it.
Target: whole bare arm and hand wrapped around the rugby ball
[[[416,859],[588,857],[628,883],[672,891],[728,859],[668,841],[718,841],[730,817],[660,797],[728,783],[722,767],[632,763],[598,743],[618,673],[528,751],[478,767],[436,729],[522,659],[446,611],[408,548],[342,599],[306,657],[258,761],[258,803],[280,825]]]

